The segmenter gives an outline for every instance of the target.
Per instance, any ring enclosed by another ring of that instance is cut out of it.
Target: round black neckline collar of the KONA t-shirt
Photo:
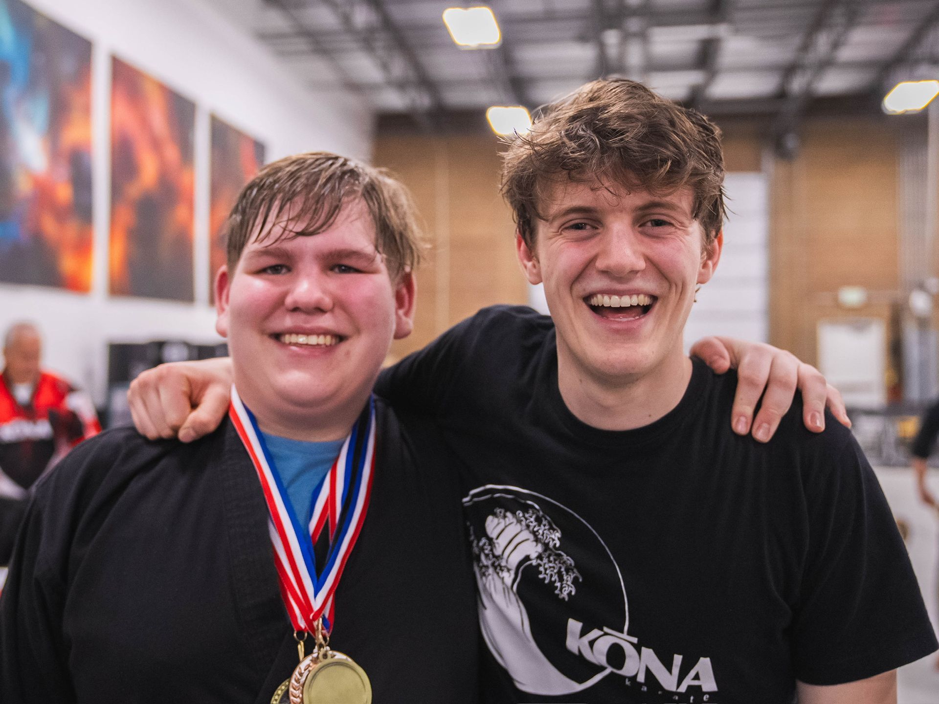
[[[709,374],[710,370],[703,361],[692,358],[691,378],[688,381],[688,386],[685,388],[685,393],[682,395],[681,401],[678,402],[678,406],[672,408],[657,421],[653,421],[639,428],[633,428],[631,430],[603,430],[581,421],[564,403],[561,389],[558,386],[558,364],[557,353],[555,352],[555,362],[550,384],[550,405],[553,407],[557,419],[561,421],[562,425],[574,436],[582,438],[594,445],[637,446],[653,442],[665,434],[673,433],[677,426],[684,422],[687,416],[703,403],[703,391],[706,387]],[[728,422],[730,422],[730,419],[728,419]]]

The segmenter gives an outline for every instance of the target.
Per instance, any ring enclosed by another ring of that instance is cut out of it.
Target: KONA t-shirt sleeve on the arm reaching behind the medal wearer
[[[375,390],[395,408],[439,417],[446,411],[455,378],[468,355],[478,314],[434,342],[385,369]]]

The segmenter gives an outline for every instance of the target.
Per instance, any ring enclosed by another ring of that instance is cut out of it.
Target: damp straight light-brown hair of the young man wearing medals
[[[375,222],[379,253],[393,276],[421,260],[421,231],[408,190],[386,170],[331,152],[273,161],[241,190],[225,223],[228,268],[234,270],[254,233],[264,241],[275,224],[279,238],[321,233],[350,198],[361,198]]]

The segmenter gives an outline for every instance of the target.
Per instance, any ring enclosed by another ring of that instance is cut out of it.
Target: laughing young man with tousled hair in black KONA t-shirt
[[[546,106],[504,163],[552,317],[485,309],[377,385],[459,459],[485,700],[896,702],[896,668],[936,641],[854,437],[814,392],[774,427],[778,389],[744,435],[760,370],[738,384],[683,350],[723,247],[719,131],[610,79]],[[217,402],[191,414],[164,385],[216,375],[142,379],[138,426],[192,433]]]

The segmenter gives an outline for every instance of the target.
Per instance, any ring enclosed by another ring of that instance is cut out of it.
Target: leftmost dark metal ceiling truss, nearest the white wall
[[[280,8],[301,35],[315,38],[300,17],[300,11],[314,3],[266,1]],[[346,33],[375,61],[385,82],[398,92],[414,119],[424,128],[433,129],[445,109],[443,99],[384,3],[381,0],[315,0],[315,3],[329,8]]]

